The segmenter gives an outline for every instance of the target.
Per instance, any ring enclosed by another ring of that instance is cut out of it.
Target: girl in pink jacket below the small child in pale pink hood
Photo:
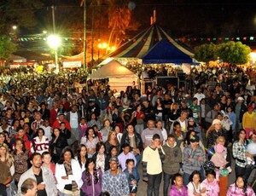
[[[216,173],[214,170],[207,170],[207,178],[202,182],[204,187],[207,188],[207,192],[205,194],[207,196],[218,196],[219,187],[215,177]]]

